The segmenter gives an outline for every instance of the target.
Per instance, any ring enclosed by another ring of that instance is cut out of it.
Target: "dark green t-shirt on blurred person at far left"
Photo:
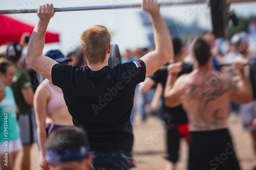
[[[31,88],[30,77],[24,70],[15,66],[15,74],[11,85],[16,104],[20,114],[31,114],[32,107],[29,106],[23,97],[22,89]]]

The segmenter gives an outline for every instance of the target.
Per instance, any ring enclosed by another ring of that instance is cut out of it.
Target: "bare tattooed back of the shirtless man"
[[[236,93],[231,76],[217,71],[193,71],[180,80],[181,102],[191,131],[227,128],[229,102]]]

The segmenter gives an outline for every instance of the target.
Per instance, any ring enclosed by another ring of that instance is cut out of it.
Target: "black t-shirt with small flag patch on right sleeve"
[[[60,87],[73,123],[87,131],[92,151],[132,151],[130,115],[136,85],[145,80],[142,60],[105,66],[55,64],[52,82]]]

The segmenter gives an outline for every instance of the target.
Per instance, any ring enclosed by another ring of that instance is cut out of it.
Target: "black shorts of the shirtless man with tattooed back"
[[[188,170],[239,170],[227,129],[191,132]]]

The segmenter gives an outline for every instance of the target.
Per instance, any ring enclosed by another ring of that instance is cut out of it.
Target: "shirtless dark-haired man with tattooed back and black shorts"
[[[213,69],[206,41],[196,39],[193,53],[197,68],[177,79],[181,63],[170,65],[164,91],[165,105],[182,104],[188,116],[191,131],[188,169],[240,169],[227,130],[227,118],[230,100],[237,103],[252,101],[244,64],[232,63],[232,68],[240,72],[240,79],[235,81]]]

